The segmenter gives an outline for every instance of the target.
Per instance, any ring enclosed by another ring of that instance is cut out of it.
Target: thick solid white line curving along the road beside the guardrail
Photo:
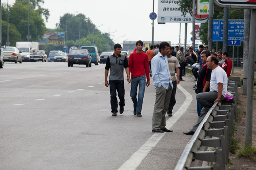
[[[192,95],[189,94],[181,85],[177,88],[186,95],[186,99],[177,112],[172,116],[171,119],[166,121],[166,128],[170,129],[174,123],[187,111],[190,103],[192,102]],[[118,170],[135,170],[148,153],[157,145],[166,133],[154,133],[147,142],[145,142],[138,151],[136,151]]]

